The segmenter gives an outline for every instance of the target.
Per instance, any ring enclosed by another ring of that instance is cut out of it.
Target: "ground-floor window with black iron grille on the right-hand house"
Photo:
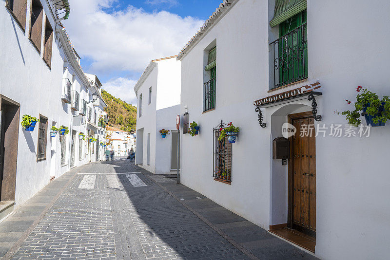
[[[230,184],[232,182],[232,144],[225,137],[219,140],[220,129],[225,128],[225,124],[221,123],[214,128],[214,180]]]

